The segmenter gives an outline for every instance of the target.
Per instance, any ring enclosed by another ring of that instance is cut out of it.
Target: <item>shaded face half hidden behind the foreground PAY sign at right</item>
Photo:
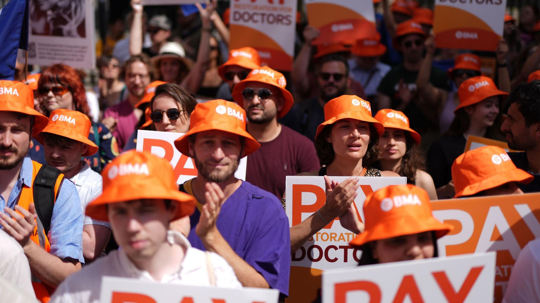
[[[435,239],[431,231],[415,233],[370,243],[373,258],[379,263],[433,258]]]

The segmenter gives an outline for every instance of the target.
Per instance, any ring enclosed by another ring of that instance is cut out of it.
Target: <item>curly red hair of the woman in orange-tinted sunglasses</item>
[[[51,67],[47,68],[41,74],[41,77],[39,77],[37,87],[43,87],[47,83],[54,83],[68,87],[71,95],[73,96],[73,105],[75,106],[75,110],[89,116],[90,120],[92,120],[90,116],[90,107],[86,101],[84,84],[75,68],[65,64],[51,65]],[[42,102],[39,102],[39,107],[45,116],[49,116],[51,114],[49,110],[45,108],[45,105]]]

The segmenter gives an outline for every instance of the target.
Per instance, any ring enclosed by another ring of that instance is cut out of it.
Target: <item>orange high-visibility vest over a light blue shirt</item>
[[[24,208],[25,210],[28,210],[30,204],[34,203],[33,184],[36,179],[36,175],[41,167],[42,167],[42,164],[32,161],[32,187],[26,187],[23,185],[23,189],[21,190],[21,195],[19,196],[19,199],[17,201],[17,204],[21,206],[22,208]],[[60,184],[62,184],[63,180],[64,180],[64,175],[60,174],[55,184],[55,202],[56,202],[56,197],[58,195],[58,189],[60,188]],[[18,213],[21,214],[20,212]],[[43,224],[40,221],[39,217],[37,217],[36,219],[36,227],[34,228],[34,231],[32,232],[30,239],[37,245],[43,247],[43,249],[46,252],[51,251],[51,244],[49,243],[49,238],[47,237],[47,235],[45,235],[45,230],[43,229]],[[46,285],[33,274],[32,274],[32,286],[34,288],[34,291],[36,292],[36,298],[39,301],[42,301],[43,303],[46,303],[51,299],[51,294],[55,290],[54,287]]]

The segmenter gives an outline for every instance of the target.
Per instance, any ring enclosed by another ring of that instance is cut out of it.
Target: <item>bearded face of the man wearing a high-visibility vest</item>
[[[15,168],[28,153],[31,138],[30,117],[17,118],[0,111],[0,170]]]

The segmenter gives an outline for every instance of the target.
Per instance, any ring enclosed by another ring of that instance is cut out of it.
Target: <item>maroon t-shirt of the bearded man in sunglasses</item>
[[[247,156],[246,181],[281,199],[285,178],[321,168],[313,142],[281,125],[281,133]]]

